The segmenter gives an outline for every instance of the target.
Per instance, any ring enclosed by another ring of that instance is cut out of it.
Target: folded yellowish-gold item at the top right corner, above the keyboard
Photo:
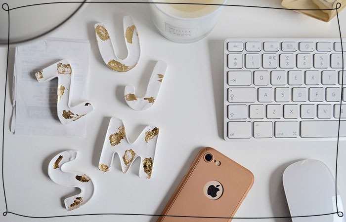
[[[341,3],[341,7],[338,9],[338,12],[340,12],[345,7],[346,0],[282,0],[281,4],[285,8],[294,9],[328,9],[336,8],[338,2]],[[336,10],[303,10],[298,12],[312,16],[325,22],[329,22],[337,15]]]

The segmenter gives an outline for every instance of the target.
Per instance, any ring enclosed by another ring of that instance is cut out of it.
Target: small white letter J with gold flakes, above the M
[[[146,110],[156,102],[160,87],[167,70],[167,64],[164,61],[157,61],[151,74],[147,91],[143,98],[138,98],[135,88],[132,85],[125,87],[125,101],[130,108],[136,111]]]

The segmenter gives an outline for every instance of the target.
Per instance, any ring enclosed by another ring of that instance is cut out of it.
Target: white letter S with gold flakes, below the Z
[[[48,165],[49,178],[58,185],[78,187],[81,192],[64,200],[66,210],[74,210],[86,204],[94,193],[94,185],[90,177],[79,172],[65,172],[61,167],[77,157],[76,150],[66,150],[54,156]]]

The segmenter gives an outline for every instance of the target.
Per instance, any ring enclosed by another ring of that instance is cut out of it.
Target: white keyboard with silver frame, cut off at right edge
[[[337,137],[342,64],[340,38],[226,39],[224,139]]]

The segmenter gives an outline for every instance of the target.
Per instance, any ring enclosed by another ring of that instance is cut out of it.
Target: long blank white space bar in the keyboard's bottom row
[[[302,121],[301,137],[338,137],[339,121]],[[346,137],[346,121],[340,122],[340,137]]]

